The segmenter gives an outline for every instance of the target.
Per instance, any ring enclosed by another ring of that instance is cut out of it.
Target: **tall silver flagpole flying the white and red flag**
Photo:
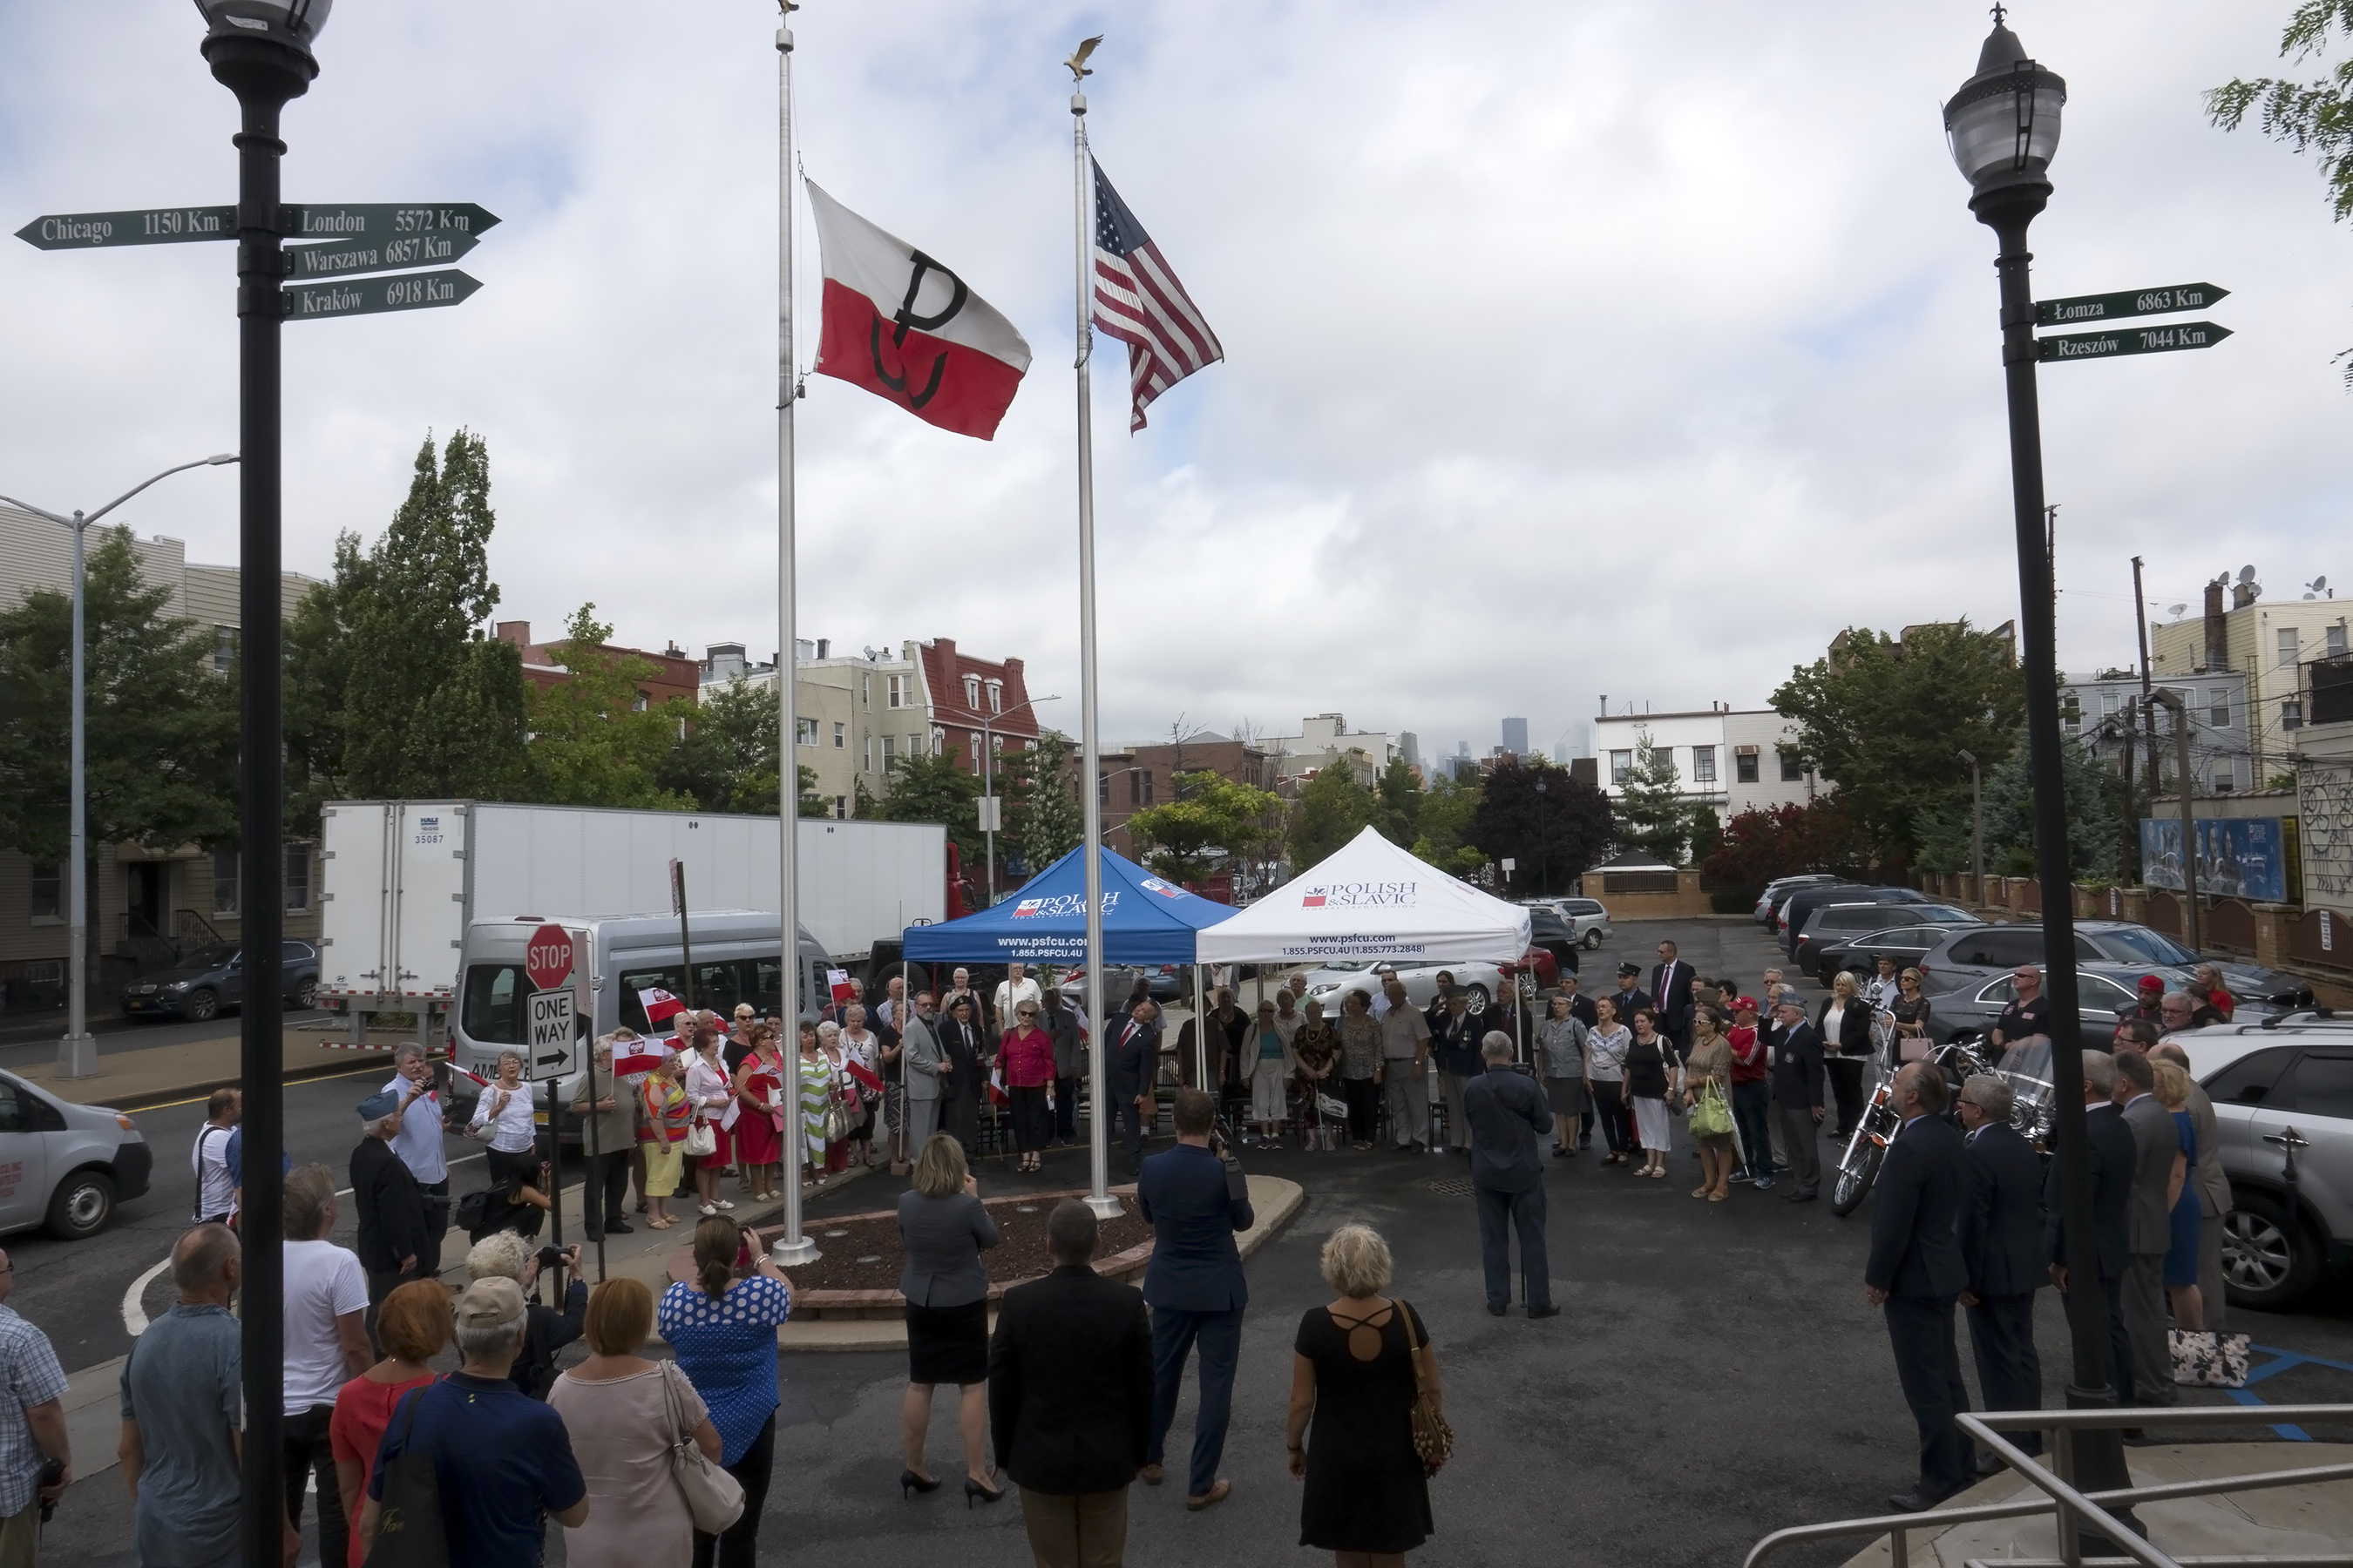
[[[793,644],[793,12],[795,0],[776,0],[776,933],[784,943],[781,1027],[793,1037],[784,1051],[784,1114],[793,1135],[784,1173],[784,1237],[769,1248],[776,1267],[816,1262],[816,1246],[800,1234],[800,1166],[809,1124],[800,1114],[800,733],[793,715],[800,658]]]

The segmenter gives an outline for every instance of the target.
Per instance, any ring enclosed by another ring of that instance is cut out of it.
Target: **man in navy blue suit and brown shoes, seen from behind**
[[[1144,1481],[1160,1486],[1160,1455],[1176,1420],[1184,1361],[1200,1345],[1200,1408],[1193,1413],[1193,1469],[1184,1505],[1193,1512],[1224,1502],[1233,1481],[1217,1474],[1233,1410],[1233,1368],[1242,1354],[1242,1307],[1249,1286],[1233,1234],[1257,1225],[1249,1194],[1226,1187],[1226,1164],[1209,1150],[1217,1100],[1198,1088],[1176,1091],[1176,1147],[1144,1161],[1136,1211],[1153,1227],[1153,1260],[1144,1269],[1144,1300],[1153,1309],[1153,1432]]]

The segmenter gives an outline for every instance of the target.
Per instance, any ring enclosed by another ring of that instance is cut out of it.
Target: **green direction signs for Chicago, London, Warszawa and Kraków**
[[[473,202],[346,202],[339,207],[280,207],[278,233],[306,244],[285,247],[289,322],[381,310],[433,310],[464,303],[482,284],[442,268],[482,242],[499,216]],[[52,212],[16,230],[45,252],[120,249],[125,244],[188,244],[235,240],[235,207],[136,207],[129,212]],[[442,268],[416,273],[409,268]],[[405,273],[372,277],[372,273]],[[346,282],[358,280],[358,282]]]

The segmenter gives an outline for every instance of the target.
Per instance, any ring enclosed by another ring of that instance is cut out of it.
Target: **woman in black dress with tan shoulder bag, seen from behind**
[[[1438,1356],[1421,1316],[1381,1295],[1388,1244],[1344,1225],[1322,1248],[1339,1300],[1299,1319],[1292,1349],[1289,1465],[1306,1481],[1299,1544],[1346,1556],[1402,1556],[1431,1537],[1431,1488],[1414,1453],[1414,1363],[1438,1396]],[[1308,1418],[1313,1415],[1313,1441]]]

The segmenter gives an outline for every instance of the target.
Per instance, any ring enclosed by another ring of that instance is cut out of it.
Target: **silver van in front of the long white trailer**
[[[784,966],[779,961],[776,914],[760,910],[711,910],[689,917],[685,943],[675,914],[602,914],[576,919],[567,914],[518,914],[513,919],[478,919],[466,926],[459,950],[456,1006],[449,1018],[449,1058],[466,1072],[496,1077],[499,1053],[529,1044],[532,980],[525,973],[525,950],[541,926],[572,933],[574,1027],[579,1034],[607,1034],[621,1025],[640,1034],[652,1030],[642,994],[668,992],[692,999],[727,1018],[739,1001],[758,1013],[784,1006]],[[800,1016],[816,1018],[826,1001],[826,950],[802,926],[800,931]],[[692,987],[687,952],[694,954]],[[525,1067],[529,1074],[529,1067]],[[541,1084],[546,1079],[539,1079]],[[579,1086],[579,1067],[558,1079],[558,1100],[569,1105]],[[459,1098],[471,1098],[459,1084]],[[541,1091],[546,1093],[546,1091]]]

